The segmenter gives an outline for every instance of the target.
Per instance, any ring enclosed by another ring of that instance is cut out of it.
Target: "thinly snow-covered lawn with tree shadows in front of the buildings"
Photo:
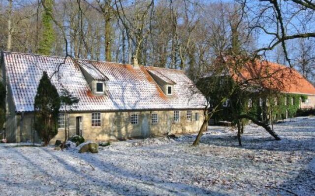
[[[0,145],[0,195],[315,195],[315,118],[193,136],[116,142],[98,154]]]

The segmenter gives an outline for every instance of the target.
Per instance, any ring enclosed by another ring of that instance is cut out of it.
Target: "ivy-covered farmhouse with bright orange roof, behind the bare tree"
[[[249,97],[243,100],[247,110],[260,116],[260,120],[283,120],[296,116],[299,109],[315,108],[315,87],[295,69],[259,59],[243,63],[237,69],[235,60],[222,60],[233,81],[249,81],[252,86],[262,87],[263,90],[257,93],[249,92]],[[224,109],[213,116],[211,123],[232,121],[231,101],[228,99],[223,103]]]

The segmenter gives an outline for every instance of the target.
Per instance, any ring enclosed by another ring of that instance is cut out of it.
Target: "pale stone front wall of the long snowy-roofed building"
[[[151,114],[158,114],[158,123],[152,123]],[[195,120],[195,113],[199,113],[199,120]],[[138,114],[138,124],[131,124],[131,114]],[[174,111],[135,111],[135,112],[101,112],[101,126],[92,127],[92,112],[68,114],[69,136],[76,134],[77,117],[82,118],[82,136],[91,141],[125,140],[131,138],[144,138],[148,136],[162,136],[166,134],[189,134],[199,131],[204,116],[202,110],[192,110],[192,121],[188,122],[187,110],[180,110],[180,122],[174,122]],[[18,115],[19,121],[16,127],[17,135],[21,135],[17,142],[32,141],[33,115],[24,114],[23,121]],[[23,122],[23,123],[21,123]],[[22,125],[22,129],[21,126]],[[57,136],[51,141],[64,139],[64,128],[58,130]],[[35,141],[38,138],[35,134]]]

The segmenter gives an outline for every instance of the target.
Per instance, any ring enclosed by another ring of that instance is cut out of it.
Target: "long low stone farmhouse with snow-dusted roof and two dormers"
[[[205,98],[191,93],[195,87],[180,70],[2,52],[8,142],[39,141],[33,104],[43,71],[59,92],[63,87],[80,99],[67,116],[61,108],[54,140],[64,138],[65,118],[69,136],[93,141],[192,133],[204,119]]]

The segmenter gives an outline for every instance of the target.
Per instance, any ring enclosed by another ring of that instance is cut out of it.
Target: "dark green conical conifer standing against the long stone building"
[[[58,133],[58,113],[60,108],[60,97],[56,87],[51,83],[46,72],[43,73],[35,96],[35,121],[34,128],[44,146]]]

